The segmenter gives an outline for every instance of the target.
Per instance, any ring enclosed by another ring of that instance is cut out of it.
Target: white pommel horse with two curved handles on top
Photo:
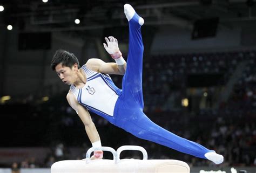
[[[93,151],[110,151],[113,160],[90,160]],[[143,153],[143,160],[121,159],[120,153],[124,150],[138,150]],[[59,161],[51,166],[51,173],[190,173],[187,163],[178,160],[147,160],[147,152],[140,146],[122,146],[116,150],[111,147],[97,147],[87,150],[85,160]]]

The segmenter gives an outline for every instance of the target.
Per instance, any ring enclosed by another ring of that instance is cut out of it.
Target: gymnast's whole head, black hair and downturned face
[[[79,68],[77,57],[65,50],[57,50],[51,61],[51,69],[56,71],[58,77],[68,85],[76,82]]]

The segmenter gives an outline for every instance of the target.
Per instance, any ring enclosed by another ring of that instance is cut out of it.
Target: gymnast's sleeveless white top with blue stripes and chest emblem
[[[86,74],[86,84],[83,88],[71,85],[70,89],[77,101],[96,114],[113,116],[114,106],[121,92],[109,75],[98,73],[82,66]]]

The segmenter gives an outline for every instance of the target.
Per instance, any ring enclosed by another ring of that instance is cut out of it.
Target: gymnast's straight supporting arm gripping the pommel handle
[[[82,105],[80,105],[77,100],[75,99],[75,96],[69,92],[66,95],[66,99],[69,102],[69,105],[76,110],[76,113],[82,120],[85,126],[85,131],[87,136],[89,137],[89,140],[92,143],[92,147],[101,147],[100,137],[99,133],[95,127],[95,124],[93,123],[91,119],[91,115],[88,112],[87,109],[85,109]],[[93,157],[91,159],[95,158],[102,158],[103,157],[103,151],[95,151]]]

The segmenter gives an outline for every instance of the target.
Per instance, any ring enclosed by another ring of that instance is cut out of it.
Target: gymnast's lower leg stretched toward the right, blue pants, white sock
[[[163,146],[178,150],[182,153],[190,154],[200,158],[207,158],[216,164],[223,162],[223,156],[216,154],[200,144],[189,141],[175,135],[168,130],[152,122],[143,112],[136,112],[137,119],[127,117],[123,129],[141,139],[156,142]],[[139,115],[139,116],[138,116]]]

